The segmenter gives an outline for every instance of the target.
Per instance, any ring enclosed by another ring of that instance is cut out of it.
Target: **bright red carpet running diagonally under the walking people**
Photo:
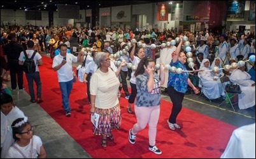
[[[127,113],[127,99],[123,96],[120,101],[121,129],[113,130],[114,141],[108,140],[108,147],[102,148],[101,137],[92,135],[85,84],[74,83],[69,98],[72,115],[68,118],[62,108],[57,73],[52,70],[52,60],[43,56],[43,63],[39,70],[44,102],[40,105],[93,158],[220,158],[232,130],[236,129],[232,125],[183,108],[178,116],[178,124],[183,128],[172,131],[166,122],[171,112],[171,103],[162,100],[156,141],[162,155],[155,155],[148,150],[148,128],[139,132],[136,144],[129,143],[128,130],[136,122],[136,117]],[[24,86],[28,87],[26,79]]]

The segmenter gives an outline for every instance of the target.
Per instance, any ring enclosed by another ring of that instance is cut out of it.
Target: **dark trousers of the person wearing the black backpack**
[[[41,98],[41,79],[39,72],[34,73],[25,73],[25,77],[27,78],[27,84],[29,84],[29,94],[31,99],[34,100],[34,82],[36,83],[36,96]]]

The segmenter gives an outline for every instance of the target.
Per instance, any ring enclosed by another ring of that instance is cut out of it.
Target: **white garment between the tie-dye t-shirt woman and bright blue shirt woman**
[[[176,50],[176,46],[171,46],[171,48],[161,49],[159,64],[169,65],[171,63],[171,60],[173,59],[171,54],[174,53],[175,50]],[[169,77],[169,71],[164,70],[164,84],[162,84],[162,87],[167,88],[168,77]]]

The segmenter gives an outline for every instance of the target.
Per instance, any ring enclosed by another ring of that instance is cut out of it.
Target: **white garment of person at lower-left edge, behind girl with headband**
[[[4,115],[1,111],[1,158],[5,158],[8,153],[8,149],[11,144],[14,143],[11,124],[17,118],[23,117],[25,117],[23,111],[21,111],[17,106],[14,106],[8,115]]]

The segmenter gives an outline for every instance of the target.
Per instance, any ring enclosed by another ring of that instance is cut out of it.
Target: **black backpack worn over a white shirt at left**
[[[34,63],[34,56],[36,51],[32,54],[31,58],[27,57],[27,53],[24,51],[25,61],[23,63],[23,68],[25,73],[34,73],[36,72],[36,64]]]

